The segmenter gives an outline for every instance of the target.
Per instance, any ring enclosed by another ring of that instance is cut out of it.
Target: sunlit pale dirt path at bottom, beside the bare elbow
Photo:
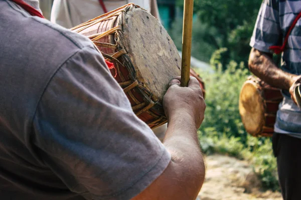
[[[260,191],[260,181],[247,162],[225,155],[206,157],[206,179],[199,200],[281,200],[279,192]]]

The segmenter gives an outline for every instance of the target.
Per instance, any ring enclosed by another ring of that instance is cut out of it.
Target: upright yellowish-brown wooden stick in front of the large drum
[[[193,0],[184,0],[181,86],[187,86],[190,79],[192,17]]]

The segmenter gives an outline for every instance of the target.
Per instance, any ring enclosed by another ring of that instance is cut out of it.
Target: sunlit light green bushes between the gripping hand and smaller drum
[[[206,83],[205,119],[199,129],[199,138],[206,154],[214,152],[248,160],[265,188],[279,189],[276,159],[270,138],[256,138],[246,133],[238,109],[240,88],[248,70],[243,63],[230,61],[222,70],[220,58],[227,49],[217,50],[211,63],[216,73],[202,74]]]

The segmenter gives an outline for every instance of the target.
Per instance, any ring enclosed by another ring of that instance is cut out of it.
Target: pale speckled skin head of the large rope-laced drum
[[[181,75],[177,47],[162,24],[144,9],[131,7],[122,21],[122,42],[136,78],[152,92],[155,102],[162,102],[169,82]]]

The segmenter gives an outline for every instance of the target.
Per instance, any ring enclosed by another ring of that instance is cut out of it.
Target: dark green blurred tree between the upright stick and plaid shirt
[[[194,10],[202,23],[214,27],[215,34],[208,32],[203,38],[218,48],[228,50],[221,59],[227,66],[230,60],[247,63],[252,35],[262,0],[194,0]],[[183,6],[184,0],[178,0]]]

